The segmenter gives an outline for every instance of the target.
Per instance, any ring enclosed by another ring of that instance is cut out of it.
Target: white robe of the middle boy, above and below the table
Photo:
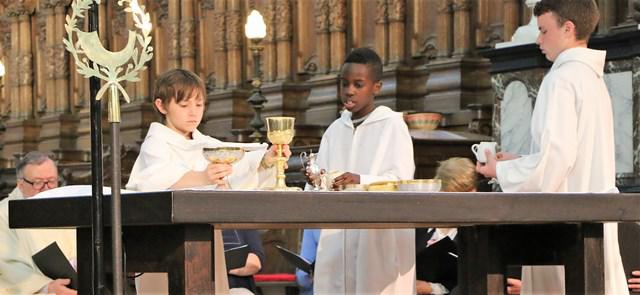
[[[343,112],[322,137],[318,164],[329,172],[359,174],[363,184],[412,179],[415,171],[407,125],[384,106],[355,130],[351,113]],[[414,230],[323,229],[314,293],[415,294]]]

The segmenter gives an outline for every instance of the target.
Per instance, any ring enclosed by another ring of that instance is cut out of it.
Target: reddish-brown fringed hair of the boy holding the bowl
[[[206,100],[207,90],[198,75],[185,69],[172,69],[156,79],[153,101],[160,99],[166,106],[171,99],[175,99],[176,103],[188,99],[194,91],[202,94],[202,98]]]

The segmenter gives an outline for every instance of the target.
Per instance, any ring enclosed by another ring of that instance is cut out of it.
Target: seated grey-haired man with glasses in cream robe
[[[56,242],[68,259],[75,259],[75,230],[9,228],[9,200],[58,187],[56,164],[44,153],[29,152],[16,164],[16,178],[16,188],[0,201],[0,294],[77,294],[67,287],[70,280],[46,277],[31,258]]]

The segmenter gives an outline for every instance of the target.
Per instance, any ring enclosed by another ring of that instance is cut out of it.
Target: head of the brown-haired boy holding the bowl
[[[153,105],[165,119],[165,125],[191,137],[204,115],[205,86],[198,75],[173,69],[160,75],[153,92]]]

